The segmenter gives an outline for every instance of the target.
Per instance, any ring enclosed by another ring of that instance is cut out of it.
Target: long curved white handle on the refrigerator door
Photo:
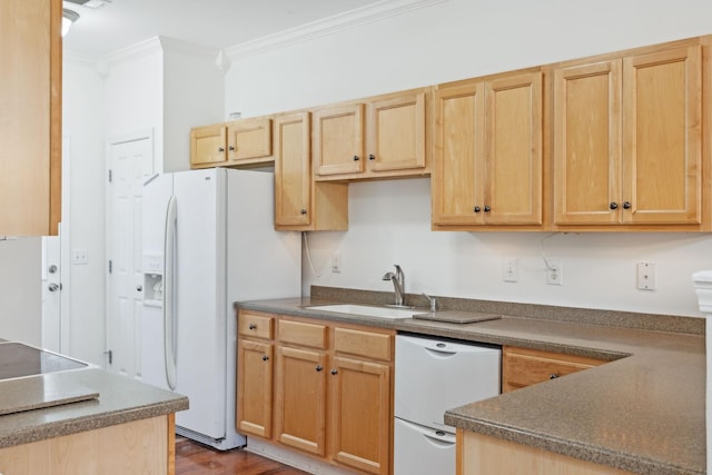
[[[176,265],[176,197],[171,196],[166,209],[166,241],[164,243],[164,352],[168,387],[176,389],[176,328],[175,328],[175,265]]]

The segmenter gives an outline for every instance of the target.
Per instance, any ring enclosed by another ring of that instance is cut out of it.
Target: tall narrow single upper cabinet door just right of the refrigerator
[[[275,119],[275,225],[308,225],[312,218],[309,112]]]

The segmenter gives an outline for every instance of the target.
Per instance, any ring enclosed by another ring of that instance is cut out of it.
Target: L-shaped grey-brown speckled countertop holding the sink
[[[595,368],[452,408],[445,413],[445,423],[634,473],[705,473],[703,319],[550,307],[552,315],[564,317],[546,319],[500,313],[503,317],[496,320],[447,324],[305,308],[354,303],[325,295],[236,306],[610,360]],[[363,296],[359,298],[366,303]],[[469,310],[495,313],[496,306],[490,304],[473,301]],[[457,309],[467,309],[462,307],[467,305],[459,305]],[[520,308],[503,303],[500,309],[514,309],[520,314],[541,311],[541,308],[527,310],[528,307],[541,306],[521,305]],[[612,326],[592,324],[591,316],[596,314],[611,314],[615,321]],[[575,318],[568,316],[581,316],[586,323],[575,323]],[[627,320],[634,321],[635,328],[625,327],[623,324]],[[655,329],[639,328],[641,326]],[[679,327],[683,333],[657,329]]]

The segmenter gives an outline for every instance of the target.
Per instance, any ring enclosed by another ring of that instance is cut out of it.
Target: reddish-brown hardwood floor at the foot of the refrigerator
[[[308,475],[247,451],[215,451],[176,436],[176,475]]]

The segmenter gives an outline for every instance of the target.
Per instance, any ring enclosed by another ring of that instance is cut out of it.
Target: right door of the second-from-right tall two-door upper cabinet
[[[542,73],[488,81],[485,93],[485,222],[541,225]]]

